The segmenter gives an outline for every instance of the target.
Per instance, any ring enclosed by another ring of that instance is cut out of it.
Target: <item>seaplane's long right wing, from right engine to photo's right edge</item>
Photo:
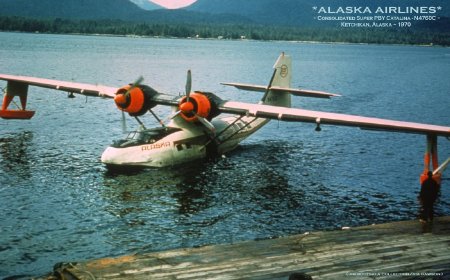
[[[330,125],[354,126],[362,129],[430,134],[450,137],[450,127],[422,123],[403,122],[380,118],[363,117],[321,111],[277,107],[227,101],[219,106],[223,113],[247,115],[282,121],[309,122]]]

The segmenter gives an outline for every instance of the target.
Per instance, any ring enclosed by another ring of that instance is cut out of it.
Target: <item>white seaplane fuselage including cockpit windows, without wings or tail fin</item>
[[[256,132],[268,120],[226,116],[211,121],[215,133],[200,123],[186,123],[178,117],[166,127],[140,128],[115,141],[102,154],[107,166],[166,167],[224,154]]]

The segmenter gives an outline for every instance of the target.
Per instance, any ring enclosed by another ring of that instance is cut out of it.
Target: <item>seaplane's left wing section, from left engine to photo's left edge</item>
[[[118,90],[118,88],[116,87],[108,87],[102,85],[91,85],[91,84],[27,77],[27,76],[5,75],[5,74],[0,74],[0,80],[49,89],[56,89],[72,93],[79,93],[87,96],[97,96],[105,98],[114,98],[115,93]]]

